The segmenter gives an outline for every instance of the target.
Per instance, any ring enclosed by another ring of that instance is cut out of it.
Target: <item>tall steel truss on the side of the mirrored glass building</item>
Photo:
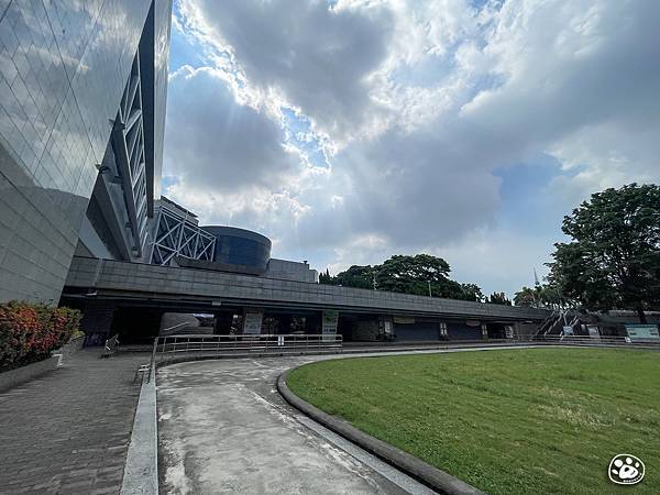
[[[142,121],[142,85],[140,51],[133,59],[117,119],[112,129],[112,148],[121,178],[128,212],[127,228],[133,238],[132,251],[142,257],[147,228],[146,164]]]

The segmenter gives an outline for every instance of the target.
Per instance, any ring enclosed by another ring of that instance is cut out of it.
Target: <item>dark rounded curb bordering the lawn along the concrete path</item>
[[[282,397],[293,407],[312,418],[329,430],[334,431],[346,440],[355,443],[378,459],[403,471],[438,493],[451,495],[475,495],[484,494],[472,485],[441,471],[432,465],[417,459],[409,453],[397,449],[389,443],[378,440],[351,426],[343,419],[330,416],[311,404],[295,395],[286,384],[288,374],[300,366],[285,371],[277,377],[277,391]]]

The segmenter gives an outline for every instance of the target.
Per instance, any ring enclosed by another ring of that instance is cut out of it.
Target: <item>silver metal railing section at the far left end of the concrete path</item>
[[[290,333],[240,336],[163,336],[154,339],[151,373],[156,363],[172,360],[230,356],[232,354],[283,354],[337,352],[342,348],[339,334]]]

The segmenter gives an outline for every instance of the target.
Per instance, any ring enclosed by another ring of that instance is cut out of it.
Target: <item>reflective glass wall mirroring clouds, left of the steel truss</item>
[[[0,1],[0,301],[57,301],[151,7]]]

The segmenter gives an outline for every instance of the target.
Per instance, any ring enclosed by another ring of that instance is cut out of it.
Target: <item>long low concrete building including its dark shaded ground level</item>
[[[507,331],[528,333],[525,327],[536,329],[550,315],[544,309],[286,280],[212,266],[86,257],[74,258],[64,299],[84,309],[88,331],[118,332],[124,341],[140,337],[145,342],[157,333],[162,316],[173,311],[213,315],[216,333],[322,331],[361,341],[506,338]],[[237,317],[242,319],[238,328]]]

